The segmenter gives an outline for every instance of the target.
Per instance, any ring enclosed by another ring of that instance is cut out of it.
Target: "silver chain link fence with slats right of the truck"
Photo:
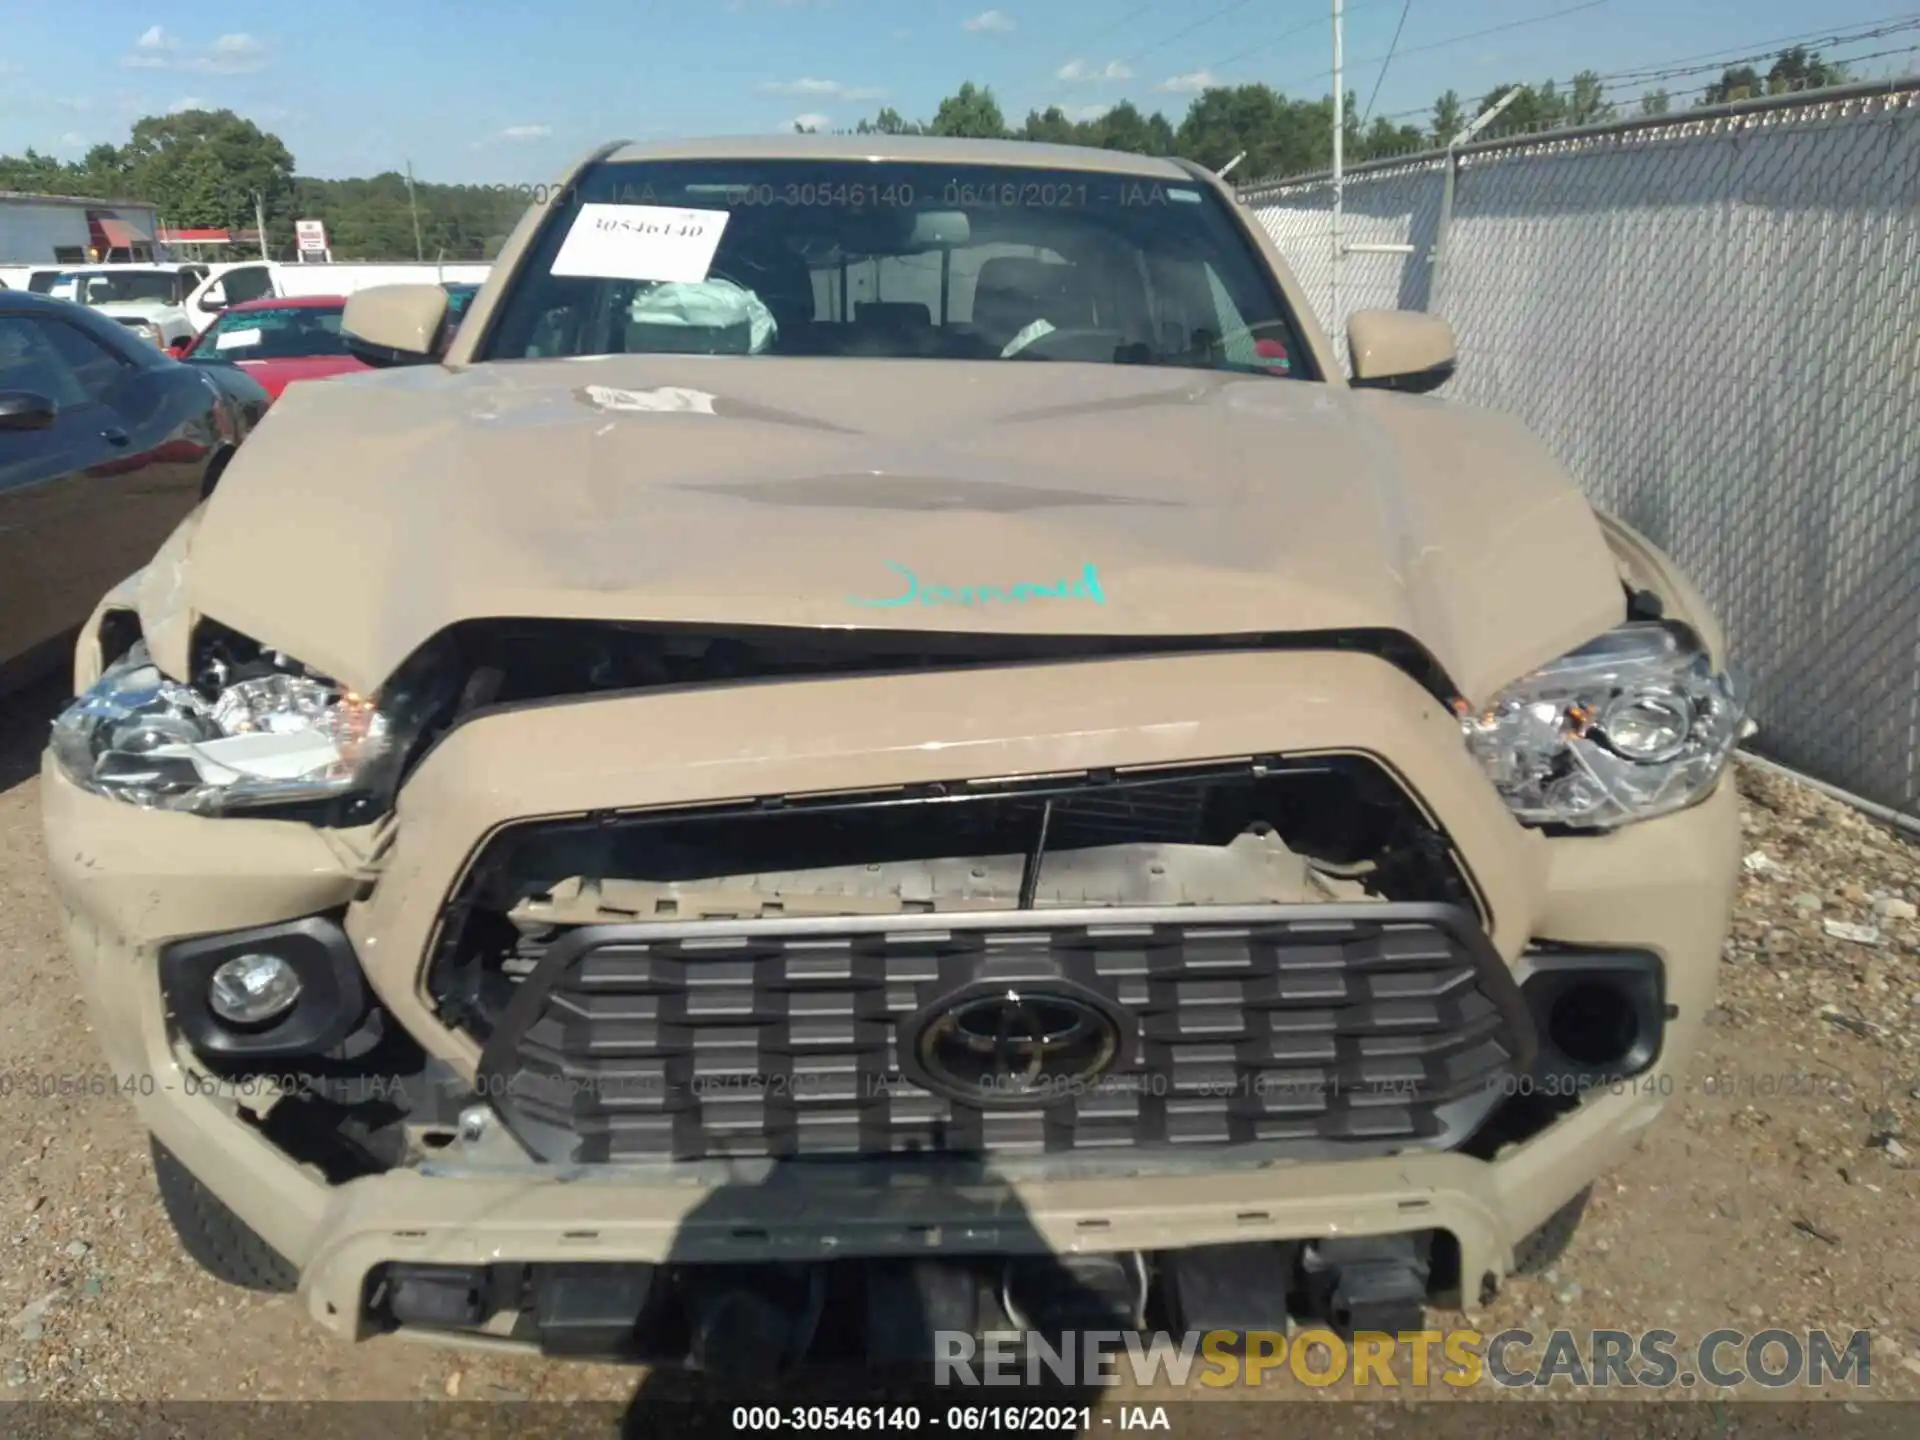
[[[1453,323],[1440,392],[1526,420],[1686,566],[1755,749],[1920,814],[1920,79],[1242,192],[1344,357]],[[1398,248],[1398,250],[1396,250]],[[1524,599],[1523,599],[1524,603]]]

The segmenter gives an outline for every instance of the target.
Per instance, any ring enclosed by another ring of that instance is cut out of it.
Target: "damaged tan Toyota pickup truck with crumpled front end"
[[[609,146],[355,294],[44,766],[186,1248],[755,1373],[1546,1263],[1732,904],[1722,637],[1208,171]]]

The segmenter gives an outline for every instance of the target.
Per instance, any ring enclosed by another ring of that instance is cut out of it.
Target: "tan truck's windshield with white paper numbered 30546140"
[[[482,359],[849,355],[1311,376],[1202,184],[1010,165],[603,163],[549,217]]]

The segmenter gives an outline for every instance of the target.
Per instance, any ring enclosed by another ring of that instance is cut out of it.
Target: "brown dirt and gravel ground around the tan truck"
[[[94,1064],[40,852],[35,766],[56,701],[48,687],[0,699],[0,1073],[12,1075]],[[1870,1329],[1872,1386],[1830,1386],[1832,1411],[1914,1400],[1920,847],[1764,772],[1743,768],[1741,791],[1743,902],[1684,1096],[1599,1183],[1557,1269],[1511,1281],[1471,1321],[1670,1329],[1682,1342],[1720,1327]],[[626,1402],[639,1380],[396,1340],[344,1346],[290,1298],[217,1284],[175,1244],[117,1096],[35,1100],[15,1087],[0,1100],[0,1402]]]

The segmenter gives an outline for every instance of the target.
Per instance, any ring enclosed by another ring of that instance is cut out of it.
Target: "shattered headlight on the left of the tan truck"
[[[134,645],[54,720],[67,778],[150,810],[323,801],[359,789],[394,755],[371,699],[276,657],[184,685]]]

